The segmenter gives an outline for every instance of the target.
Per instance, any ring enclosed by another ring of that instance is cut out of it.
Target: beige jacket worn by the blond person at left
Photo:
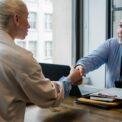
[[[0,30],[0,122],[23,122],[27,102],[50,107],[63,99],[63,85],[46,79],[32,54]]]

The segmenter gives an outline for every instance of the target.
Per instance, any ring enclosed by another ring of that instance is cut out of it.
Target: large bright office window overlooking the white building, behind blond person
[[[23,47],[30,50],[38,62],[71,65],[72,0],[26,0],[26,4],[31,28]],[[16,42],[19,44],[20,40]]]

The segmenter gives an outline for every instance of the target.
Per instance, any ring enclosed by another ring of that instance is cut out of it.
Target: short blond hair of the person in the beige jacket
[[[0,28],[4,29],[7,26],[12,15],[23,15],[25,7],[23,0],[0,0]]]

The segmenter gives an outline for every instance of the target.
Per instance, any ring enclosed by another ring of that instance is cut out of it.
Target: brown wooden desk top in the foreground
[[[56,108],[29,106],[24,122],[122,122],[122,108],[105,110],[76,104],[75,99],[69,97]]]

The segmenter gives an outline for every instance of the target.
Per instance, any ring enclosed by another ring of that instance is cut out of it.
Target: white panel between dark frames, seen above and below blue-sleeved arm
[[[97,48],[106,39],[106,0],[84,1],[84,55]],[[105,87],[105,66],[88,74],[92,83]]]

